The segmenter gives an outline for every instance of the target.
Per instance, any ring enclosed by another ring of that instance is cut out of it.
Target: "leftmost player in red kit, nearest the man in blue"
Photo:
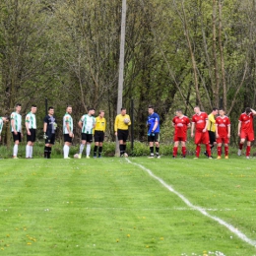
[[[181,151],[183,158],[186,157],[186,141],[187,141],[187,128],[190,127],[190,120],[187,116],[183,115],[182,110],[176,111],[176,116],[172,119],[172,126],[174,126],[174,147],[172,150],[172,157],[175,159],[178,152],[178,143],[181,143]]]

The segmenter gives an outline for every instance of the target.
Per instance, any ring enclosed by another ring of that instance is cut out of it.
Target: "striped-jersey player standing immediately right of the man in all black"
[[[72,113],[72,106],[68,105],[66,109],[66,113],[63,116],[63,134],[64,134],[64,147],[63,147],[63,153],[64,153],[64,159],[70,159],[69,158],[69,149],[72,144],[72,140],[74,138],[73,133],[73,118],[71,116]]]

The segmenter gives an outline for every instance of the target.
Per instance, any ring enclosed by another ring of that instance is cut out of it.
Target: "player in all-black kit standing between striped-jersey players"
[[[50,159],[51,148],[55,143],[57,121],[53,114],[54,108],[49,106],[48,114],[43,119],[43,139],[45,140],[44,159]]]

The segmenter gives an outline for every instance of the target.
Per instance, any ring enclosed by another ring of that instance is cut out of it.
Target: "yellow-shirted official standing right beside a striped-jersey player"
[[[106,126],[104,114],[105,113],[103,110],[99,110],[99,114],[96,117],[96,127],[94,129],[94,134],[95,134],[94,158],[95,159],[96,159],[97,148],[98,148],[98,158],[101,158],[102,146],[104,141],[104,132],[105,132],[105,126]]]

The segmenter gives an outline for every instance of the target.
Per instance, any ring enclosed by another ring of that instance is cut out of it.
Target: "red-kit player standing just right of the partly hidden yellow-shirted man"
[[[222,159],[222,144],[224,143],[224,159],[228,160],[228,143],[230,138],[230,120],[224,115],[224,109],[220,108],[220,116],[216,118],[216,141],[218,160]]]

